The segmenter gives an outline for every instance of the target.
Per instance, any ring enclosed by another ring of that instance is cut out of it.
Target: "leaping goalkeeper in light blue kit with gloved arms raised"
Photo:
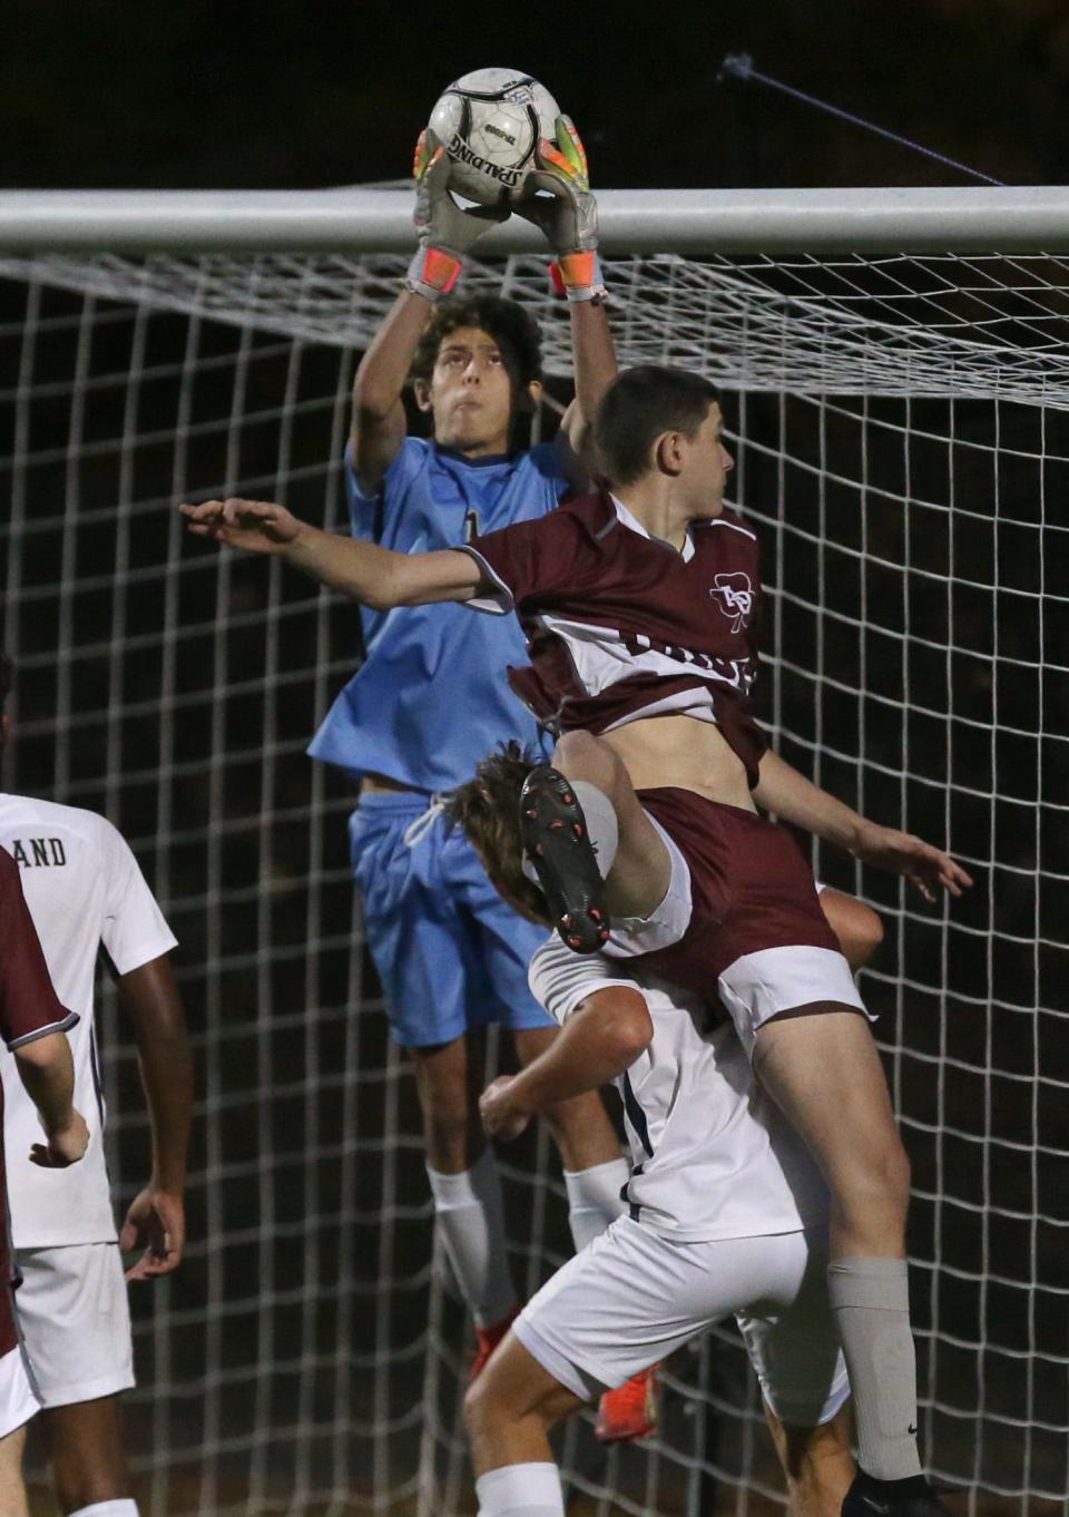
[[[419,250],[356,373],[346,455],[353,536],[399,552],[456,548],[543,516],[582,485],[587,419],[616,373],[596,206],[567,120],[558,120],[555,143],[540,144],[538,200],[516,206],[544,229],[569,296],[576,400],[550,443],[516,448],[517,426],[541,394],[535,322],[511,300],[455,294],[466,255],[508,212],[453,202],[449,159],[429,132],[415,176]],[[431,422],[426,441],[408,435],[409,378]],[[526,981],[540,933],[503,906],[467,842],[447,836],[440,796],[497,740],[534,742],[537,725],[499,678],[523,651],[514,625],[432,605],[400,617],[364,611],[362,631],[365,660],[309,752],[361,783],[353,872],[391,1032],[415,1068],[437,1226],[476,1324],[475,1376],[517,1297],[497,1170],[469,1094],[473,1035],[500,1022],[526,1063],[556,1029]],[[619,1212],[626,1164],[596,1095],[553,1106],[546,1118],[581,1247],[591,1226]]]

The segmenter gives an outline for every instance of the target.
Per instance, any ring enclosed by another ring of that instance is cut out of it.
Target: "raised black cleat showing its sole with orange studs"
[[[597,953],[608,942],[605,881],[572,784],[538,765],[520,792],[520,837],[561,942]]]

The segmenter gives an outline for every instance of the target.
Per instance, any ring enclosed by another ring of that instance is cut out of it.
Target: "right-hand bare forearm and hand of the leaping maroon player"
[[[823,837],[861,863],[904,875],[926,901],[936,901],[940,890],[961,895],[972,884],[972,875],[942,848],[911,833],[870,822],[772,751],[761,758],[754,799],[766,812],[775,812],[785,822]]]

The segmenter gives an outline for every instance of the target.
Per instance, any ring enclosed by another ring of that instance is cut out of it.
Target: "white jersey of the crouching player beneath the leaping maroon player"
[[[531,989],[566,1022],[608,986],[641,991],[654,1038],[616,1082],[623,1097],[632,1217],[678,1242],[761,1238],[828,1220],[828,1188],[754,1077],[735,1030],[704,1000],[631,960],[575,954],[550,938],[531,960]]]

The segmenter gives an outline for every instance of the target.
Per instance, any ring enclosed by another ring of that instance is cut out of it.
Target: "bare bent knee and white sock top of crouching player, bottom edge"
[[[564,1517],[549,1447],[553,1423],[582,1406],[509,1333],[464,1399],[479,1517]]]

